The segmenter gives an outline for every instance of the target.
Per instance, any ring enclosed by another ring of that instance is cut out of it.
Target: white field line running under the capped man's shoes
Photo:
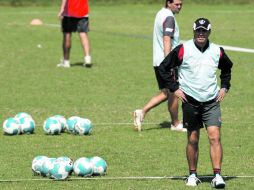
[[[184,176],[131,176],[131,177],[72,177],[67,178],[64,181],[75,181],[75,180],[165,180],[165,179],[179,179],[184,180],[187,177]],[[212,179],[214,176],[199,176],[199,179]],[[224,179],[230,178],[254,178],[254,176],[246,175],[246,176],[223,176]],[[1,182],[26,182],[26,181],[59,181],[55,179],[49,178],[41,178],[41,179],[0,179]]]

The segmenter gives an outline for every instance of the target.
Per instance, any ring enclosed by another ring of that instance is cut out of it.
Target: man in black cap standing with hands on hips
[[[210,157],[214,179],[212,187],[224,188],[220,175],[222,145],[220,141],[220,102],[230,88],[230,61],[223,48],[211,43],[208,37],[211,24],[199,18],[193,25],[194,39],[177,46],[159,66],[165,85],[182,100],[183,124],[187,128],[186,155],[190,176],[186,185],[196,186],[198,143],[200,128],[205,125],[210,143]],[[218,87],[216,71],[221,70],[221,85]]]

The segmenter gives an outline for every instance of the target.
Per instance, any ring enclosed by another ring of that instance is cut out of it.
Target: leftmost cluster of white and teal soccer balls
[[[3,123],[3,131],[6,135],[31,134],[34,129],[35,122],[32,116],[25,112],[7,118]]]

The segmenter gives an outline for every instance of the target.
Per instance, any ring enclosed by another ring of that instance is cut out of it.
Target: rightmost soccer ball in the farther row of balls
[[[74,130],[76,134],[79,135],[88,135],[92,131],[92,122],[86,118],[80,118],[75,125]]]

